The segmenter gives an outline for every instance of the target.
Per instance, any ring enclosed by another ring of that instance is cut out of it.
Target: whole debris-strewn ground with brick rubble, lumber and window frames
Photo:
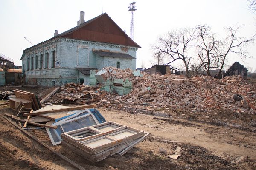
[[[9,99],[0,104],[1,169],[256,167],[255,84],[104,69],[105,80],[132,82],[131,92],[101,90],[104,83],[1,90]]]

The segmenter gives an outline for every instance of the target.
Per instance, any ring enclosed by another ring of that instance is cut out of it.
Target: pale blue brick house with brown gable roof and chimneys
[[[92,69],[112,66],[136,69],[140,46],[104,13],[23,51],[22,69],[26,82],[43,86],[68,82],[89,84]]]

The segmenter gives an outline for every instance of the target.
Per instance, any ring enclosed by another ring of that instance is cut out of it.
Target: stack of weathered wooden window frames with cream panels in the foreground
[[[61,145],[95,163],[116,153],[125,154],[148,135],[142,130],[105,122],[62,133]]]

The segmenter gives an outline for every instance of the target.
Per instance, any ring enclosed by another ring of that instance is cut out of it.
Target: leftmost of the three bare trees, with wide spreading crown
[[[188,56],[187,51],[193,40],[194,33],[189,29],[180,29],[178,31],[169,31],[163,37],[159,37],[157,43],[153,45],[155,56],[164,56],[170,60],[170,64],[178,59],[183,60],[186,73],[189,75],[189,62],[192,57]]]

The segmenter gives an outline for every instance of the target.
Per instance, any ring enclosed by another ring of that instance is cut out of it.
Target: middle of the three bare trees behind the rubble
[[[195,30],[198,40],[196,46],[198,48],[198,58],[200,61],[198,68],[203,67],[207,75],[210,76],[210,70],[212,68],[218,68],[219,66],[221,58],[219,48],[221,48],[222,42],[216,40],[215,34],[211,32],[209,26],[197,26]]]

